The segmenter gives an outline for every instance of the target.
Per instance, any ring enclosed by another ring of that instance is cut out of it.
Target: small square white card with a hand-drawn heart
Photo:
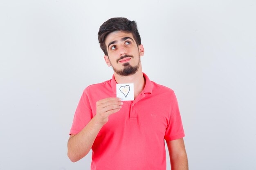
[[[117,97],[122,101],[134,100],[133,83],[117,84]]]

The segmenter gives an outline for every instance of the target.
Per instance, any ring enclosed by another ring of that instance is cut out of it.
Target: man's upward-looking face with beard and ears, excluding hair
[[[106,37],[105,44],[108,51],[105,61],[118,75],[132,75],[141,68],[144,48],[142,44],[137,46],[132,33],[114,31]]]

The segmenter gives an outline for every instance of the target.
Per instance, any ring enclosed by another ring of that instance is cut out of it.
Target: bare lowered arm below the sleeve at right
[[[166,141],[168,146],[171,169],[172,170],[188,170],[188,158],[186,155],[185,145],[183,138],[173,141]]]

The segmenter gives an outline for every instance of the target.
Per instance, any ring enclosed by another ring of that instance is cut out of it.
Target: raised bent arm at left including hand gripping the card
[[[119,98],[106,98],[96,103],[96,115],[78,134],[71,134],[67,142],[67,156],[72,162],[79,161],[88,154],[92,144],[108,117],[121,109]]]

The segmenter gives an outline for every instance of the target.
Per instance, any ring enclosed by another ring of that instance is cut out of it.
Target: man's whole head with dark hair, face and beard
[[[136,25],[126,18],[111,18],[100,26],[98,38],[104,59],[118,75],[142,72],[140,57],[144,48]]]

